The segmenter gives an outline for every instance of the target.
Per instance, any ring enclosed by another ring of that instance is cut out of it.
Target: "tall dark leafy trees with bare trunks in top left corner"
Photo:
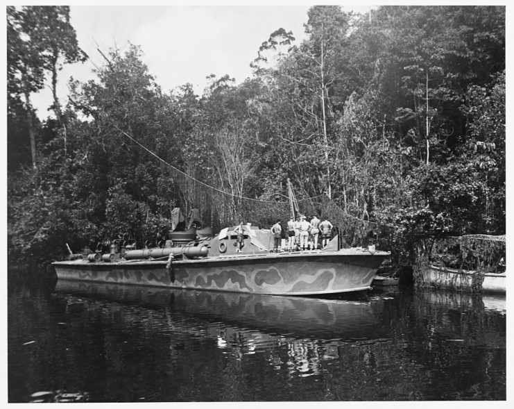
[[[17,126],[13,126],[10,135],[30,141],[31,160],[37,167],[37,119],[31,103],[31,94],[42,90],[47,73],[51,74],[51,90],[58,125],[62,127],[58,133],[64,140],[66,149],[65,118],[62,117],[60,101],[56,87],[58,72],[63,63],[83,62],[85,53],[78,47],[76,33],[69,22],[68,6],[39,7],[7,7],[7,72],[8,72],[8,116],[10,119],[25,117],[28,137],[19,134]],[[22,103],[22,97],[24,102]],[[12,124],[12,122],[10,122]],[[11,132],[12,131],[12,132]],[[21,138],[20,138],[21,137]],[[13,137],[9,138],[14,145],[9,165],[15,159],[24,159],[16,151],[23,151]]]

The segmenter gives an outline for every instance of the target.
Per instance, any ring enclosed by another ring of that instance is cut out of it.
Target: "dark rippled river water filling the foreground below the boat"
[[[505,297],[8,283],[8,401],[505,400]]]

